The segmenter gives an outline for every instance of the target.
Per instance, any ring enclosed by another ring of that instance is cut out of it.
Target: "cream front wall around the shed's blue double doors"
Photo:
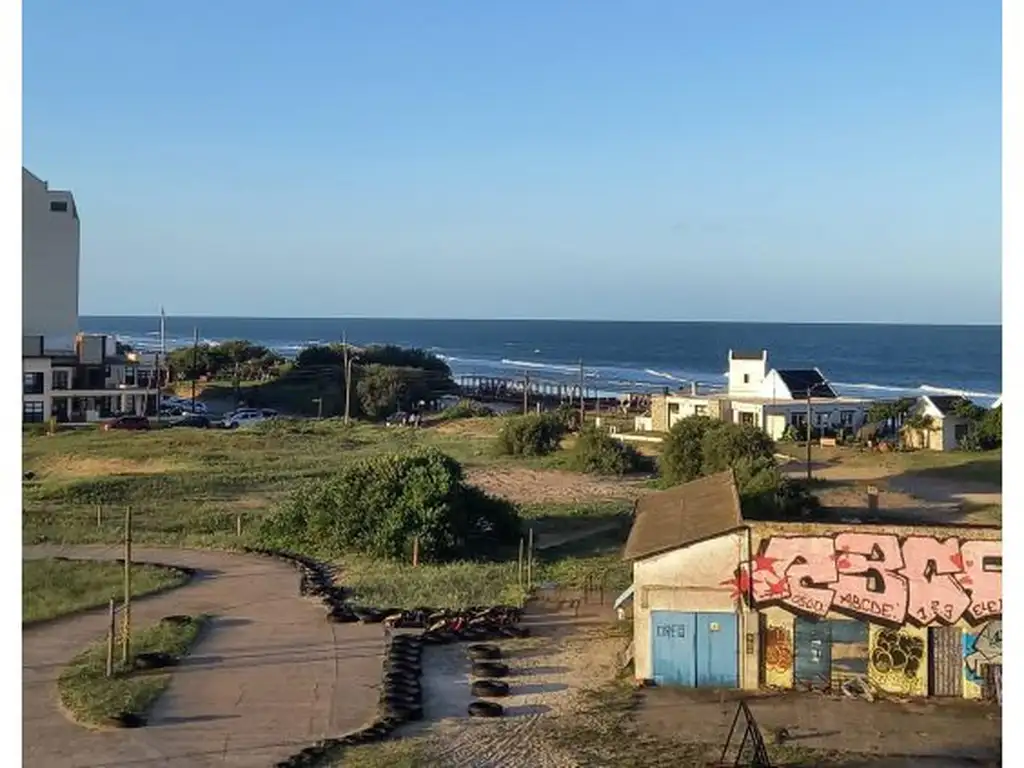
[[[741,688],[758,686],[757,613],[746,611],[728,584],[739,563],[749,559],[746,543],[743,529],[633,564],[633,651],[638,680],[653,676],[652,610],[738,612],[739,684]],[[751,634],[753,645],[746,638]]]

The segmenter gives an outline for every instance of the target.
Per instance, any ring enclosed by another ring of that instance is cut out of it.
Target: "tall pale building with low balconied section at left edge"
[[[80,334],[80,219],[75,197],[22,169],[22,417],[90,422],[151,413],[159,392],[144,361],[114,338]],[[152,367],[151,367],[152,368]]]

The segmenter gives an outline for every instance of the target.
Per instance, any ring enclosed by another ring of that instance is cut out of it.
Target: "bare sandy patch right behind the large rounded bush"
[[[520,504],[632,500],[647,489],[642,479],[612,479],[525,467],[467,469],[466,480],[488,494]]]

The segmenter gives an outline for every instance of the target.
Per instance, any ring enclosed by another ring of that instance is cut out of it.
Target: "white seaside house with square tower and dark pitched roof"
[[[779,439],[787,426],[856,430],[866,420],[870,400],[836,393],[816,369],[769,369],[768,352],[729,350],[728,387],[651,397],[651,428],[664,432],[680,419],[710,416],[760,427]]]

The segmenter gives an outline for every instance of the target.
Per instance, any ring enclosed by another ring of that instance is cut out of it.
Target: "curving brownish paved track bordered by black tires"
[[[26,559],[114,559],[116,547],[27,547]],[[178,667],[145,728],[92,731],[60,711],[56,679],[106,631],[105,609],[23,632],[24,765],[265,767],[372,720],[383,637],[335,625],[299,597],[295,569],[269,558],[137,547],[133,560],[196,568],[180,589],[132,605],[133,625],[208,613],[209,630]]]

